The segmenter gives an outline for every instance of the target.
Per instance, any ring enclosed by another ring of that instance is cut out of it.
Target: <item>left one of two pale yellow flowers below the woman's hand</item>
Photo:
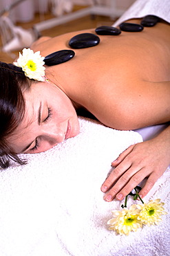
[[[129,210],[112,211],[114,218],[107,221],[109,230],[116,230],[120,235],[129,235],[129,232],[136,231],[142,227],[142,223],[138,220],[139,212],[140,210],[136,208],[136,205],[131,205]]]

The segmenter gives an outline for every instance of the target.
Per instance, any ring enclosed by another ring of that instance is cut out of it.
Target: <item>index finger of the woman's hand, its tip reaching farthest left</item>
[[[120,163],[114,170],[111,171],[107,179],[101,186],[102,192],[107,192],[114,185],[114,183],[131,167],[131,163]]]

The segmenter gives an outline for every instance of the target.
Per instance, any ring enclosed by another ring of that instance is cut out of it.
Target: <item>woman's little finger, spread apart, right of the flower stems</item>
[[[147,179],[147,182],[145,183],[145,186],[140,190],[139,195],[141,198],[147,195],[147,193],[153,188],[153,185],[156,183],[158,178],[160,178],[161,175],[158,176],[156,172],[152,172],[149,178]]]

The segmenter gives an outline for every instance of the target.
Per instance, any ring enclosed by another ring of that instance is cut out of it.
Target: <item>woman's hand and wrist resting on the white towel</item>
[[[112,201],[115,197],[123,200],[136,185],[148,177],[145,186],[139,192],[140,197],[146,196],[169,166],[169,131],[170,129],[152,140],[131,145],[111,163],[115,168],[101,187],[101,190],[106,192],[105,201]]]

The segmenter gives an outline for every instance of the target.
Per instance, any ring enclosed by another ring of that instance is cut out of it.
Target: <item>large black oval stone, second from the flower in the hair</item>
[[[91,33],[83,33],[75,35],[69,41],[70,47],[74,49],[87,48],[98,45],[100,38],[97,35]]]

